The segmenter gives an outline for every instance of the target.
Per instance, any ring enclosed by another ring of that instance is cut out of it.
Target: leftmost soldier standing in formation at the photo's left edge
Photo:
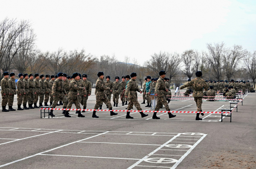
[[[9,96],[9,72],[3,72],[3,79],[1,80],[1,95],[2,95],[2,112],[9,112],[6,109],[6,105],[8,103],[8,96]]]

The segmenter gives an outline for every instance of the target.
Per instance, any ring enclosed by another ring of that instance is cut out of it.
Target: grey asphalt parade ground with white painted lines
[[[138,98],[143,110],[154,110],[141,104],[142,94]],[[172,111],[196,111],[194,100],[178,98],[169,103]],[[238,104],[237,112],[234,109],[231,123],[226,114],[221,122],[216,113],[195,121],[195,113],[173,113],[175,118],[157,113],[156,120],[153,113],[141,118],[138,112],[130,113],[134,119],[126,119],[126,112],[110,116],[98,111],[99,118],[92,118],[92,111],[87,111],[82,113],[85,118],[78,118],[70,111],[71,118],[66,118],[62,110],[54,110],[55,117],[40,118],[39,109],[0,111],[0,168],[255,169],[256,93],[241,99],[243,105]],[[230,108],[230,102],[204,100],[202,110],[221,112]],[[87,109],[95,103],[95,95],[89,96]],[[16,96],[13,107],[17,108]],[[126,107],[120,101],[113,110]]]

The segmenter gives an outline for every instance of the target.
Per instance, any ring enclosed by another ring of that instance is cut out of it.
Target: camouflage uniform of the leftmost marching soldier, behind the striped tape
[[[66,93],[66,90],[64,88],[64,84],[63,84],[63,80],[62,79],[56,79],[52,85],[52,96],[55,96],[53,97],[54,100],[53,100],[53,103],[52,103],[52,108],[55,108],[58,101],[61,99],[63,100],[64,99],[64,96],[65,96]],[[71,103],[72,104],[72,103]],[[63,105],[64,107],[64,105]]]

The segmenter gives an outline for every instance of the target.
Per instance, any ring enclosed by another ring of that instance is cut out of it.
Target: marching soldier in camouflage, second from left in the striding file
[[[85,87],[80,87],[79,86],[79,73],[73,73],[73,80],[70,82],[69,85],[69,93],[68,93],[68,104],[67,104],[67,109],[70,109],[72,107],[72,104],[74,103],[76,106],[76,109],[81,109],[80,107],[80,103],[78,101],[78,95],[79,93],[77,92],[77,90],[83,90],[83,94],[86,94],[86,90]],[[70,115],[68,115],[69,110],[65,111],[65,117],[71,117]],[[77,111],[78,113],[78,117],[84,117],[84,115],[81,114],[81,110]]]

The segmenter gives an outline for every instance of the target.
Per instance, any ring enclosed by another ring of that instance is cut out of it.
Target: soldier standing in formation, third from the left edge
[[[16,86],[17,86],[17,105],[18,105],[17,110],[23,110],[20,106],[22,104],[22,100],[23,100],[23,97],[26,94],[26,92],[25,92],[25,86],[24,86],[24,82],[23,82],[23,74],[20,73],[18,76],[19,76],[19,80],[16,83]]]

